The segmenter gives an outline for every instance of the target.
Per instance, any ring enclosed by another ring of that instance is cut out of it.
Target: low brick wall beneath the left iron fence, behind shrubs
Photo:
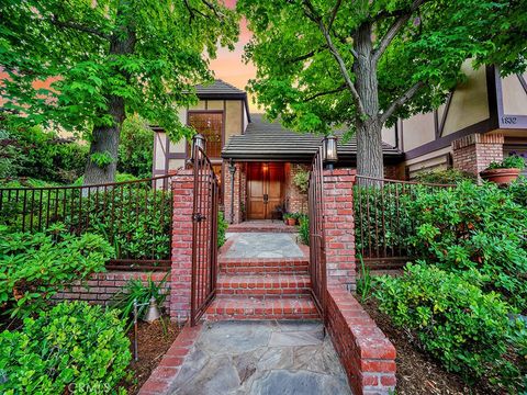
[[[64,290],[54,296],[56,300],[69,300],[69,301],[87,301],[93,304],[105,305],[112,296],[117,293],[126,284],[128,280],[141,279],[144,284],[148,281],[146,272],[122,272],[110,271],[105,273],[92,274],[88,281],[82,285],[79,282],[72,284],[70,289]],[[166,272],[153,272],[152,280],[155,282],[161,281]],[[170,274],[165,284],[167,290],[167,300],[165,307],[170,304]]]

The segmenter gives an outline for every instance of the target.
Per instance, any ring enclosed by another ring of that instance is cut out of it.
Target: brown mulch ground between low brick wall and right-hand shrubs
[[[397,350],[397,395],[492,394],[484,383],[468,385],[459,375],[445,371],[437,361],[417,348],[411,334],[395,328],[390,317],[379,312],[374,301],[362,303],[362,306]]]

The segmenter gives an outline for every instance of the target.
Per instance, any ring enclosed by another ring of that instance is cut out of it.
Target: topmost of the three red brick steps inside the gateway
[[[220,273],[227,274],[306,274],[310,261],[303,258],[291,259],[218,259]]]

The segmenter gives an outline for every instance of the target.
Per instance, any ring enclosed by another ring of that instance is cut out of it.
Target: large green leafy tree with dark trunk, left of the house
[[[83,132],[85,184],[114,179],[127,114],[190,134],[177,108],[195,102],[217,44],[233,47],[238,33],[220,0],[2,0],[0,21],[4,106]]]

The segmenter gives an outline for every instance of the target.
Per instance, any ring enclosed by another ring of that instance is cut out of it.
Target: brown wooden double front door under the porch
[[[257,162],[247,167],[247,218],[271,219],[283,200],[283,163]]]

